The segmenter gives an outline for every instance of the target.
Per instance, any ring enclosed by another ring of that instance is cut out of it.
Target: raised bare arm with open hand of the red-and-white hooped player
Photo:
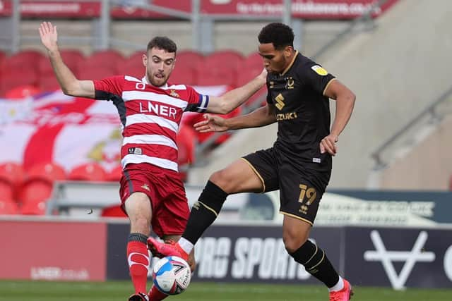
[[[47,49],[50,63],[54,69],[55,76],[64,94],[76,97],[95,97],[94,84],[92,80],[78,80],[72,71],[61,59],[58,49],[57,27],[50,22],[43,22],[40,25],[41,42]]]

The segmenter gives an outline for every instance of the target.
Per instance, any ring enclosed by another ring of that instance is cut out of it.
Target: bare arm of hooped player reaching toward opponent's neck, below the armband
[[[263,69],[262,73],[256,78],[246,83],[242,87],[231,90],[220,97],[209,96],[208,113],[227,114],[238,106],[241,106],[254,93],[258,92],[263,85],[266,84],[267,70]]]

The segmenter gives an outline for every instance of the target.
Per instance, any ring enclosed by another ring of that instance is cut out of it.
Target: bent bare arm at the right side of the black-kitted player
[[[324,137],[320,142],[320,152],[328,152],[335,156],[336,152],[338,152],[335,142],[338,142],[340,133],[342,133],[352,115],[356,96],[339,80],[333,80],[324,94],[331,99],[335,99],[336,113],[330,135]]]

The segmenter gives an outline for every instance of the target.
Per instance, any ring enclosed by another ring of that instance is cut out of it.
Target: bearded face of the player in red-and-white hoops
[[[147,56],[143,56],[148,81],[155,87],[165,85],[174,69],[175,62],[176,54],[174,52],[167,52],[156,47],[149,49]]]

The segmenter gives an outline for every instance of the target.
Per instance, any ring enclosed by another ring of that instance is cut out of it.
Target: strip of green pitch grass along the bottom
[[[130,281],[73,283],[44,281],[0,281],[0,301],[126,301]],[[352,301],[450,301],[452,289],[395,291],[389,288],[355,287]],[[321,285],[273,285],[192,283],[185,293],[169,297],[174,301],[327,301]]]

